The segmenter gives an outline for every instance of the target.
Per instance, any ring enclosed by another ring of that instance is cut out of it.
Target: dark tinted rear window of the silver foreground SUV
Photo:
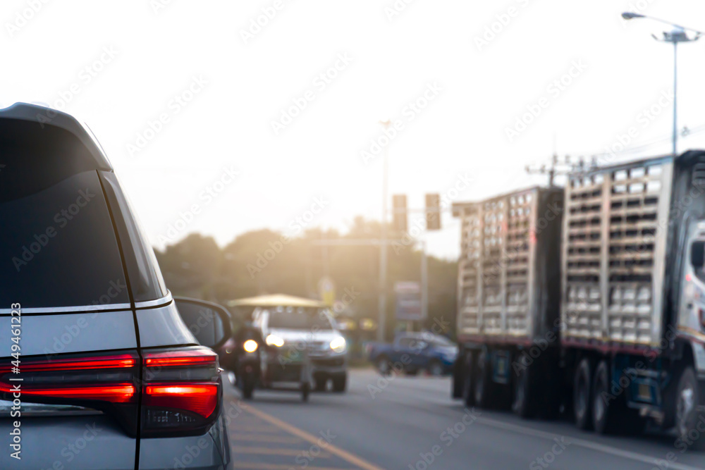
[[[68,132],[20,124],[0,122],[0,309],[129,303],[92,157]]]

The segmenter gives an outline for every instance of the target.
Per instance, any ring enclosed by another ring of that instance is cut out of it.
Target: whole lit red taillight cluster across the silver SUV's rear
[[[18,384],[23,403],[98,409],[115,416],[130,435],[137,435],[141,405],[142,437],[204,433],[216,421],[223,393],[218,355],[200,346],[150,350],[141,363],[133,353],[23,358],[19,373],[0,365],[0,397],[12,401]]]

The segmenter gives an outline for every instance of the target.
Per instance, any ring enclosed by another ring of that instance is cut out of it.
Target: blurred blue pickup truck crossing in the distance
[[[383,375],[402,370],[414,376],[425,370],[432,376],[442,376],[453,371],[458,346],[434,333],[398,333],[391,345],[369,343],[367,354]]]

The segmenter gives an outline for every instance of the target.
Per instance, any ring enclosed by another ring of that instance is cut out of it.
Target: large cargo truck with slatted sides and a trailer
[[[453,397],[705,441],[705,151],[453,205]],[[701,435],[704,435],[701,438]]]

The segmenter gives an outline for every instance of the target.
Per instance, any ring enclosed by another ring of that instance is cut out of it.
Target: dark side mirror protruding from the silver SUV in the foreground
[[[186,328],[201,345],[215,350],[230,338],[230,312],[219,304],[185,297],[174,297],[174,302]]]

